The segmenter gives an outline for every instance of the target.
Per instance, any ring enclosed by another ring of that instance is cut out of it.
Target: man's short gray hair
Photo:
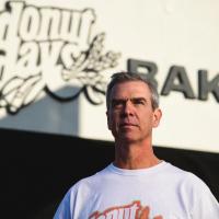
[[[127,81],[142,81],[148,85],[151,91],[151,105],[153,111],[159,107],[159,94],[157,85],[151,81],[145,73],[134,73],[134,72],[116,72],[112,74],[111,81],[106,89],[106,107],[110,108],[111,92],[115,84],[127,82]]]

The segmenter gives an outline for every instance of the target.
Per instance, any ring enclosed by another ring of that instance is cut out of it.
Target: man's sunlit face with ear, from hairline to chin
[[[128,142],[151,139],[159,125],[161,111],[152,110],[151,92],[142,81],[128,81],[113,87],[106,112],[108,129],[115,140]]]

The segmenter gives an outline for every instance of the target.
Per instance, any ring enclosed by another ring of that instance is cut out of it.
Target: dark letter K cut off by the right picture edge
[[[211,92],[219,102],[219,74],[217,74],[211,81],[208,81],[208,72],[206,70],[198,71],[198,99],[206,101],[208,93]]]

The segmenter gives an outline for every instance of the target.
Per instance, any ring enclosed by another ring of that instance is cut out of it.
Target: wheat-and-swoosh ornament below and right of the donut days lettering
[[[82,51],[76,59],[70,69],[64,69],[61,78],[64,82],[78,81],[80,90],[70,99],[61,99],[47,88],[47,82],[42,73],[28,77],[13,77],[9,79],[0,90],[0,107],[5,107],[9,114],[16,114],[24,106],[33,103],[42,90],[45,90],[50,96],[59,101],[70,101],[76,99],[81,92],[91,104],[99,105],[103,103],[106,82],[100,74],[108,68],[117,66],[120,54],[113,51],[103,53],[103,42],[105,34],[99,34],[94,37],[90,48]]]

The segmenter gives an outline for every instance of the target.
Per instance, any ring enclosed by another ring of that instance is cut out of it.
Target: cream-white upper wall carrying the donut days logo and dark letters
[[[158,84],[155,146],[219,152],[219,1],[0,2],[0,127],[113,140],[105,88]]]

